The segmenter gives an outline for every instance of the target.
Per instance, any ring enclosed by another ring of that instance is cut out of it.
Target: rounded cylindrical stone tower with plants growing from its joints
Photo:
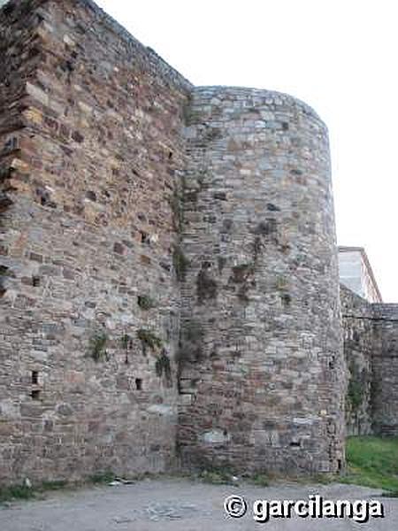
[[[344,373],[328,135],[266,90],[194,90],[180,342],[183,463],[334,472]]]

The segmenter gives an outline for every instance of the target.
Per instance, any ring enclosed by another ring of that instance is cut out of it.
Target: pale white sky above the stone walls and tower
[[[287,92],[329,127],[337,237],[398,303],[398,3],[97,0],[195,85]]]

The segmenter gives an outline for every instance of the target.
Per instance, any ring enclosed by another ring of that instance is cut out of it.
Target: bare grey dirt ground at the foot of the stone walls
[[[385,517],[356,523],[353,519],[253,519],[253,502],[324,499],[375,499]],[[226,516],[226,496],[243,496],[248,512],[240,519]],[[397,531],[398,498],[379,497],[377,489],[352,485],[275,485],[254,487],[209,485],[183,479],[145,480],[133,485],[97,487],[50,493],[42,501],[10,504],[0,509],[0,531],[227,531],[252,529],[342,531],[362,528]]]

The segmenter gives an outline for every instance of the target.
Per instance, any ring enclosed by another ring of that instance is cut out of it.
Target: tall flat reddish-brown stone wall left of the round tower
[[[0,482],[163,471],[190,84],[88,0],[0,31]]]

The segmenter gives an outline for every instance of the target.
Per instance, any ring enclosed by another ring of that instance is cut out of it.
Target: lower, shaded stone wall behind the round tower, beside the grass
[[[398,304],[369,304],[341,286],[348,435],[398,435]]]

